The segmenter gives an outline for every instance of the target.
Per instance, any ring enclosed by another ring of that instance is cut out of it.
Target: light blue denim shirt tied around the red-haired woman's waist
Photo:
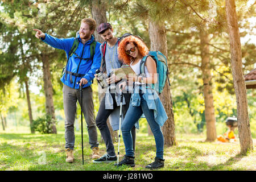
[[[130,105],[139,106],[141,105],[141,96],[139,92],[143,93],[142,97],[147,102],[148,109],[154,110],[155,121],[158,125],[163,126],[168,116],[166,110],[164,110],[163,104],[160,101],[156,90],[146,88],[146,86],[139,86],[135,84],[133,94],[131,95]],[[144,114],[143,114],[144,115]]]

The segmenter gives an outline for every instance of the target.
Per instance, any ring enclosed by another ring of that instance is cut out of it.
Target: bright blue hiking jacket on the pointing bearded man
[[[74,38],[67,38],[67,39],[58,39],[51,35],[46,34],[46,38],[41,40],[45,43],[47,43],[49,46],[52,46],[57,49],[63,49],[66,52],[66,55],[68,57],[68,53],[71,50],[73,46],[73,42],[75,41]],[[85,44],[82,44],[81,38],[78,38],[79,40],[79,46],[76,49],[76,54],[82,58],[88,58],[90,57],[90,44],[93,42],[94,37],[86,42]],[[86,78],[88,80],[88,83],[83,86],[83,88],[90,86],[92,84],[92,80],[94,78],[94,74],[97,69],[100,69],[101,66],[101,52],[100,52],[100,46],[101,44],[99,42],[96,42],[96,48],[95,53],[93,56],[93,60],[89,59],[81,60],[79,59],[75,53],[69,57],[68,63],[67,63],[67,71],[73,72],[73,73],[79,73],[79,74],[85,74],[82,77],[76,77],[68,73],[67,79],[65,77],[66,73],[60,78],[60,80],[63,82],[63,84],[74,88],[79,89],[79,84],[77,82],[81,80],[81,78]],[[70,76],[72,76],[72,81],[70,81]]]

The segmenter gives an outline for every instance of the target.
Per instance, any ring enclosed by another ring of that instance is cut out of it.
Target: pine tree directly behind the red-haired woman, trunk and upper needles
[[[162,1],[134,1],[131,4],[131,15],[148,20],[148,34],[150,36],[150,50],[160,51],[168,57],[166,28],[164,24],[164,10],[169,11],[174,6],[172,3],[166,5]],[[162,19],[163,18],[163,19]],[[171,89],[166,80],[160,100],[168,115],[167,121],[163,126],[164,143],[170,146],[176,145],[174,113],[172,110]]]

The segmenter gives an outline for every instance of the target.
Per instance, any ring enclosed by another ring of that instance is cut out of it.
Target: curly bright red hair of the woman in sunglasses
[[[123,40],[121,40],[118,47],[118,55],[119,55],[118,57],[121,61],[123,61],[123,63],[130,65],[131,61],[133,61],[133,57],[125,53],[125,47],[129,43],[133,43],[134,46],[138,48],[139,53],[143,57],[148,54],[148,48],[146,44],[136,36],[130,35],[130,36],[127,36],[126,38],[123,38]]]

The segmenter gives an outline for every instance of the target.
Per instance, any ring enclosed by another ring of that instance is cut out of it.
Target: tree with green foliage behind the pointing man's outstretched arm
[[[22,4],[16,1],[6,1],[3,3],[3,8],[1,22],[9,22],[10,27],[16,27],[17,31],[15,34],[23,36],[22,42],[26,43],[24,47],[29,47],[28,51],[25,53],[26,56],[24,60],[30,61],[30,65],[40,65],[38,63],[43,63],[41,69],[43,70],[43,88],[46,96],[46,113],[51,115],[54,121],[55,108],[53,105],[53,88],[50,69],[51,64],[59,59],[59,57],[56,56],[59,52],[35,40],[35,34],[32,32],[32,29],[39,28],[43,32],[47,32],[58,38],[66,37],[68,33],[74,32],[75,34],[82,19],[80,15],[86,15],[86,11],[85,9],[81,9],[79,3],[75,1],[44,1],[33,3],[24,1]],[[18,19],[18,21],[16,19]],[[10,54],[10,52],[8,52],[8,54]],[[15,53],[11,55],[18,56]],[[65,57],[62,57],[62,59],[64,64]],[[19,61],[18,58],[18,62]],[[22,63],[22,60],[20,62]],[[8,63],[8,61],[6,61],[6,63]],[[20,68],[17,67],[16,70],[19,71]],[[38,68],[32,68],[31,72],[35,72],[33,69],[36,70]],[[26,72],[24,72],[23,75],[26,76]],[[53,123],[52,127],[53,133],[56,133],[55,123]]]

